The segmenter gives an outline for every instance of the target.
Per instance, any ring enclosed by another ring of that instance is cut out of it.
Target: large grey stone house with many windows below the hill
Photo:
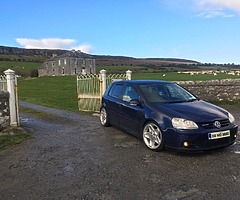
[[[53,55],[38,69],[38,76],[64,76],[95,74],[95,59],[81,51],[69,51],[63,55]]]

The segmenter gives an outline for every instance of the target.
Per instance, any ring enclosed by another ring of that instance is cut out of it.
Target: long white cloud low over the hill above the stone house
[[[61,39],[61,38],[43,38],[43,39],[31,39],[31,38],[17,38],[17,43],[26,49],[75,49],[81,50],[85,53],[92,51],[92,46],[89,44],[77,44],[74,39]]]

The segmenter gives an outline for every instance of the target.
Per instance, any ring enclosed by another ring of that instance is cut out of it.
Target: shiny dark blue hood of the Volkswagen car
[[[180,117],[195,122],[228,119],[226,110],[202,100],[186,103],[156,104],[154,107],[169,117]]]

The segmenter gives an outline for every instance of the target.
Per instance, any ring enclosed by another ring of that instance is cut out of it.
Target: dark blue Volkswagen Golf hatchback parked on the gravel
[[[157,80],[112,82],[102,97],[100,122],[143,139],[154,151],[227,147],[238,132],[228,111],[176,83]]]

